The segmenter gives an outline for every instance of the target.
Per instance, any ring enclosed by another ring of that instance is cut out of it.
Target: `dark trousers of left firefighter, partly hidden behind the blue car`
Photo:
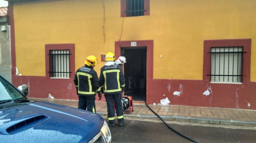
[[[96,113],[95,96],[78,96],[78,109]]]

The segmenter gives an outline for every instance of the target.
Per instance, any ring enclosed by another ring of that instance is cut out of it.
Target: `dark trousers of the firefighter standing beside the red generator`
[[[105,99],[107,102],[107,118],[109,123],[115,122],[114,103],[115,103],[116,116],[117,116],[118,122],[124,120],[123,104],[120,97],[121,97],[121,93],[105,95]]]

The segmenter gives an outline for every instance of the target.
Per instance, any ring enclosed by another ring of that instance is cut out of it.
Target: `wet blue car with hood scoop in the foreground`
[[[0,76],[1,143],[111,142],[108,124],[99,115],[30,101],[26,97],[28,87],[22,85],[18,89]]]

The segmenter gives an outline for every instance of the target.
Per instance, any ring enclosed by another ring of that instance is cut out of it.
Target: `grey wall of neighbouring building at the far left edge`
[[[2,26],[6,26],[6,31],[2,31]],[[11,73],[11,43],[10,26],[7,24],[7,17],[0,17],[0,75],[12,82]]]

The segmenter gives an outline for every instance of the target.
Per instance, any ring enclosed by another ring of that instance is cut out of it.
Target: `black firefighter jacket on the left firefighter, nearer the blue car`
[[[85,65],[75,72],[74,83],[79,96],[95,96],[100,92],[97,72],[90,66]]]

